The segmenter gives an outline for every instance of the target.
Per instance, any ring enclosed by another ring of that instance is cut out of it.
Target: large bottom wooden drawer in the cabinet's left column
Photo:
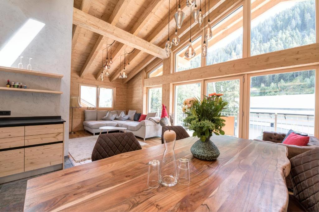
[[[0,177],[24,172],[24,149],[0,152]]]

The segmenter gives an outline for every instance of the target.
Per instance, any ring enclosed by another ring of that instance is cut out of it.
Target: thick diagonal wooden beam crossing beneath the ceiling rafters
[[[125,30],[122,30],[112,24],[109,24],[108,22],[105,22],[76,8],[73,8],[73,24],[114,39],[122,44],[129,45],[153,56],[162,59],[167,58],[165,50],[159,46],[151,44],[142,38],[132,35]]]

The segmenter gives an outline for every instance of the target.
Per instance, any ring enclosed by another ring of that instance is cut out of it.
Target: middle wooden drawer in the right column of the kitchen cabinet
[[[35,145],[35,144],[44,144],[56,141],[63,141],[63,132],[62,133],[50,133],[43,135],[28,135],[25,137],[25,145]]]

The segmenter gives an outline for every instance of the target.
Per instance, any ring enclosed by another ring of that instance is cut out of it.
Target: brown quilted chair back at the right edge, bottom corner
[[[319,148],[290,159],[293,195],[307,211],[319,211]]]

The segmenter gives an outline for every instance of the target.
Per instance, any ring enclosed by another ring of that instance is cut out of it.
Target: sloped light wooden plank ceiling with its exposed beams
[[[210,1],[209,10],[208,1]],[[93,74],[99,79],[102,72],[102,50],[113,42],[113,64],[109,69],[111,82],[120,80],[118,76],[123,70],[123,56],[121,67],[120,56],[125,51],[134,50],[130,54],[130,65],[125,68],[128,78],[122,80],[123,83],[129,81],[154,59],[166,58],[163,49],[168,34],[168,2],[169,0],[74,0],[73,24],[76,25],[73,25],[72,31],[72,71],[82,78]],[[224,11],[220,9],[225,2],[228,2],[229,6],[230,2],[238,1],[206,0],[206,15],[215,13],[215,16],[218,16],[223,13]],[[205,1],[201,3],[204,12]],[[199,8],[199,1],[197,5]],[[176,6],[176,2],[171,0],[169,23],[171,39],[175,30]],[[180,38],[189,31],[190,27],[190,8],[186,6],[185,0],[181,1],[181,9],[185,12],[185,19],[178,31]],[[200,30],[199,25],[193,22],[192,28],[195,33]],[[104,63],[105,59],[106,50]]]

